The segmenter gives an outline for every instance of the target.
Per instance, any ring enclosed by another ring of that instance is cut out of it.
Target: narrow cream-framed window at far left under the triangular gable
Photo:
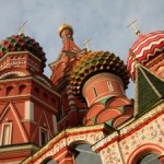
[[[1,145],[11,144],[12,122],[2,125]]]

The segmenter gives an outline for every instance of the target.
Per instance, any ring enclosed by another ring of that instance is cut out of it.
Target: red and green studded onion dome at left
[[[42,60],[44,70],[46,66],[45,52],[43,51],[43,48],[39,46],[39,44],[33,38],[25,36],[24,34],[7,37],[0,44],[0,58],[3,57],[7,52],[12,51],[30,51]]]

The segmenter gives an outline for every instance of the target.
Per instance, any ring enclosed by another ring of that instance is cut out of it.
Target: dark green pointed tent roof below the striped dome
[[[136,110],[140,115],[164,99],[164,81],[144,66],[137,65]]]

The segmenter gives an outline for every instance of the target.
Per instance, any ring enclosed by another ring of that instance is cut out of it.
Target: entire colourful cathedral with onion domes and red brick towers
[[[81,49],[73,33],[59,27],[50,78],[35,39],[21,33],[1,42],[0,164],[78,164],[81,144],[102,164],[164,163],[164,31],[137,31],[127,65]],[[130,78],[134,99],[125,92]]]

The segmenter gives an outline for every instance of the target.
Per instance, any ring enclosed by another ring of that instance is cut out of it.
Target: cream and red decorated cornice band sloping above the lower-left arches
[[[51,139],[33,156],[25,160],[23,164],[31,162],[34,164],[42,163],[45,159],[54,156],[63,148],[72,147],[77,143],[94,144],[106,136],[104,133],[105,129],[107,130],[105,125],[66,129],[57,134],[54,139]]]

